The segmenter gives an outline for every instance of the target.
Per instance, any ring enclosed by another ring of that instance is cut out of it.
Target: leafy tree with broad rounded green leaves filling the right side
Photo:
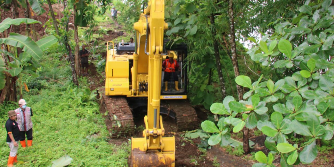
[[[226,97],[222,104],[215,103],[210,108],[225,125],[230,124],[233,133],[248,125],[249,129],[257,127],[268,136],[265,146],[271,152],[268,157],[256,153],[260,163],[254,167],[274,166],[273,156],[280,156],[284,167],[311,163],[317,157],[316,140],[333,137],[334,62],[330,55],[334,51],[334,6],[331,3],[331,0],[306,1],[298,15],[275,24],[275,32],[264,35],[247,52],[253,61],[282,73],[281,79],[261,82],[261,76],[252,83],[251,78],[240,75],[235,78],[236,83],[250,90],[243,95],[244,100],[236,102]],[[273,107],[265,109],[266,104]],[[254,119],[250,117],[252,114]],[[294,133],[308,141],[303,146],[290,144],[288,139]]]

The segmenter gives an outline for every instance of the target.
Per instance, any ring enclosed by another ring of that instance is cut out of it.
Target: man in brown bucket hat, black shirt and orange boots
[[[8,112],[8,120],[6,121],[7,139],[6,142],[10,148],[7,166],[12,167],[17,162],[17,142],[20,140],[20,131],[16,123],[16,112],[11,110]]]

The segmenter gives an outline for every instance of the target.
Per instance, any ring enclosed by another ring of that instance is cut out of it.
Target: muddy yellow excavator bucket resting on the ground
[[[162,150],[147,150],[149,139],[131,138],[132,167],[162,167],[175,166],[175,138],[162,137]]]

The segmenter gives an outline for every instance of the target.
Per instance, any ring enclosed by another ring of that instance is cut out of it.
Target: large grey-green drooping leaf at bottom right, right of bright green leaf
[[[300,162],[304,164],[309,164],[313,162],[313,160],[317,157],[318,150],[315,141],[308,144],[304,147],[304,149],[299,154]]]

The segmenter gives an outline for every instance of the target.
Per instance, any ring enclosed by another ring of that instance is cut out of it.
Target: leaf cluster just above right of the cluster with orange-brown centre
[[[258,94],[260,97],[266,97],[263,101],[266,103],[269,102],[277,102],[279,99],[284,98],[284,94],[280,91],[281,87],[284,85],[284,79],[278,80],[275,84],[274,82],[269,79],[267,81],[267,88],[259,88],[255,93]]]

